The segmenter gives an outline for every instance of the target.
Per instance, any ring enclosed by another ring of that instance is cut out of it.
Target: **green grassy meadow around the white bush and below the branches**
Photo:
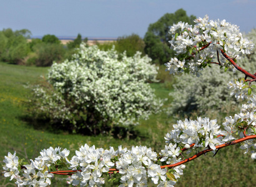
[[[26,85],[36,84],[41,79],[41,75],[47,74],[48,69],[0,62],[0,165],[3,164],[4,155],[7,155],[9,151],[11,153],[16,151],[19,158],[26,158],[29,161],[39,156],[39,152],[49,146],[61,146],[71,150],[70,158],[75,150],[85,143],[102,148],[109,148],[109,146],[117,148],[118,145],[127,148],[145,145],[152,147],[155,151],[164,148],[164,135],[175,123],[175,120],[167,117],[164,111],[151,115],[149,120],[140,120],[140,125],[130,132],[134,133],[134,138],[122,137],[122,135],[116,138],[111,135],[82,136],[61,131],[56,133],[47,131],[43,123],[41,127],[35,128],[32,122],[24,120],[26,116],[24,102],[31,94]],[[168,98],[164,106],[166,108],[172,100],[169,97],[171,90],[162,83],[150,85],[155,89],[158,97]],[[220,150],[214,157],[212,153],[208,153],[187,163],[184,176],[180,178],[176,186],[255,186],[255,161],[250,158],[250,154],[244,154],[239,146],[229,146]],[[183,155],[185,158],[189,156],[186,153]],[[57,180],[61,178],[58,177]],[[52,182],[52,186],[65,185],[64,180],[61,183]],[[0,186],[15,185],[4,178],[1,173]],[[116,184],[107,183],[106,186],[116,186]],[[149,186],[154,186],[154,184]]]

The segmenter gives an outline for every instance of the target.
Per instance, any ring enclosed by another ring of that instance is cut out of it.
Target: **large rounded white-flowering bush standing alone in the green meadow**
[[[81,44],[71,60],[52,65],[51,86],[34,88],[32,108],[53,122],[72,124],[73,131],[86,128],[96,134],[109,125],[136,125],[162,105],[147,83],[156,81],[157,67],[140,55],[124,53],[119,60],[114,49]]]

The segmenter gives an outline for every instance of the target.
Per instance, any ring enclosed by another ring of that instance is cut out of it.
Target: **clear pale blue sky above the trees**
[[[0,0],[0,30],[29,29],[32,36],[144,37],[150,23],[180,8],[189,16],[226,19],[241,32],[256,28],[256,0]]]

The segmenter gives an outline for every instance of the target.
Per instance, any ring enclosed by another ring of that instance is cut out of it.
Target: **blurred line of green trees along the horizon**
[[[155,64],[164,64],[174,52],[170,49],[170,34],[168,31],[173,24],[183,21],[194,24],[195,16],[187,16],[186,11],[179,9],[174,13],[166,13],[157,22],[149,25],[144,39],[137,34],[118,37],[116,42],[97,44],[101,50],[109,50],[114,46],[119,54],[126,51],[128,57],[132,57],[136,51],[142,55],[148,55]],[[0,31],[0,60],[11,64],[51,66],[53,61],[62,62],[70,59],[76,52],[82,41],[78,34],[74,41],[62,45],[59,39],[47,34],[42,39],[27,39],[31,37],[31,31],[21,29],[3,29]]]

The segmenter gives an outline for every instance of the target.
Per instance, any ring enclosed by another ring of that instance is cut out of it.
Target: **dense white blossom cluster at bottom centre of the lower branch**
[[[81,186],[102,185],[102,173],[115,166],[121,174],[120,186],[146,186],[148,177],[155,184],[160,183],[160,186],[165,183],[174,185],[174,181],[167,180],[167,169],[161,169],[160,165],[155,164],[156,161],[157,153],[145,146],[133,146],[131,150],[119,146],[115,151],[112,147],[104,150],[86,144],[69,161],[72,170],[78,170],[69,183]]]

